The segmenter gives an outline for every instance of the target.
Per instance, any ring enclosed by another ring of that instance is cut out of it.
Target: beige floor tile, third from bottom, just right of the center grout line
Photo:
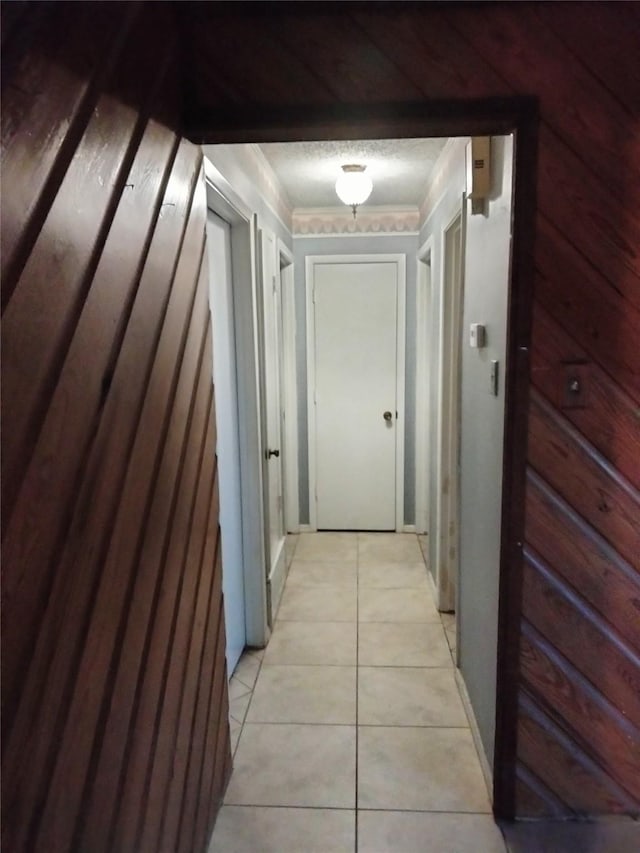
[[[358,722],[365,726],[468,725],[451,667],[360,667]]]

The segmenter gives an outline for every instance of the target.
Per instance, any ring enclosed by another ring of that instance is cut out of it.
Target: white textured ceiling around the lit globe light
[[[446,139],[274,142],[260,145],[293,207],[336,207],[341,166],[367,167],[367,205],[420,205]]]

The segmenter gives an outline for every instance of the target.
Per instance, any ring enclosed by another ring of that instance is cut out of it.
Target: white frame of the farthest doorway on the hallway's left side
[[[300,529],[298,486],[298,382],[296,374],[296,305],[293,254],[277,240],[282,300],[282,455],[284,462],[284,519],[287,533]]]

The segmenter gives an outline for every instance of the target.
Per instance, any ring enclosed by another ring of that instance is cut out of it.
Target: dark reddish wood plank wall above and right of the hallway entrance
[[[200,138],[274,109],[539,99],[516,813],[637,815],[639,5],[213,5],[180,4]]]

